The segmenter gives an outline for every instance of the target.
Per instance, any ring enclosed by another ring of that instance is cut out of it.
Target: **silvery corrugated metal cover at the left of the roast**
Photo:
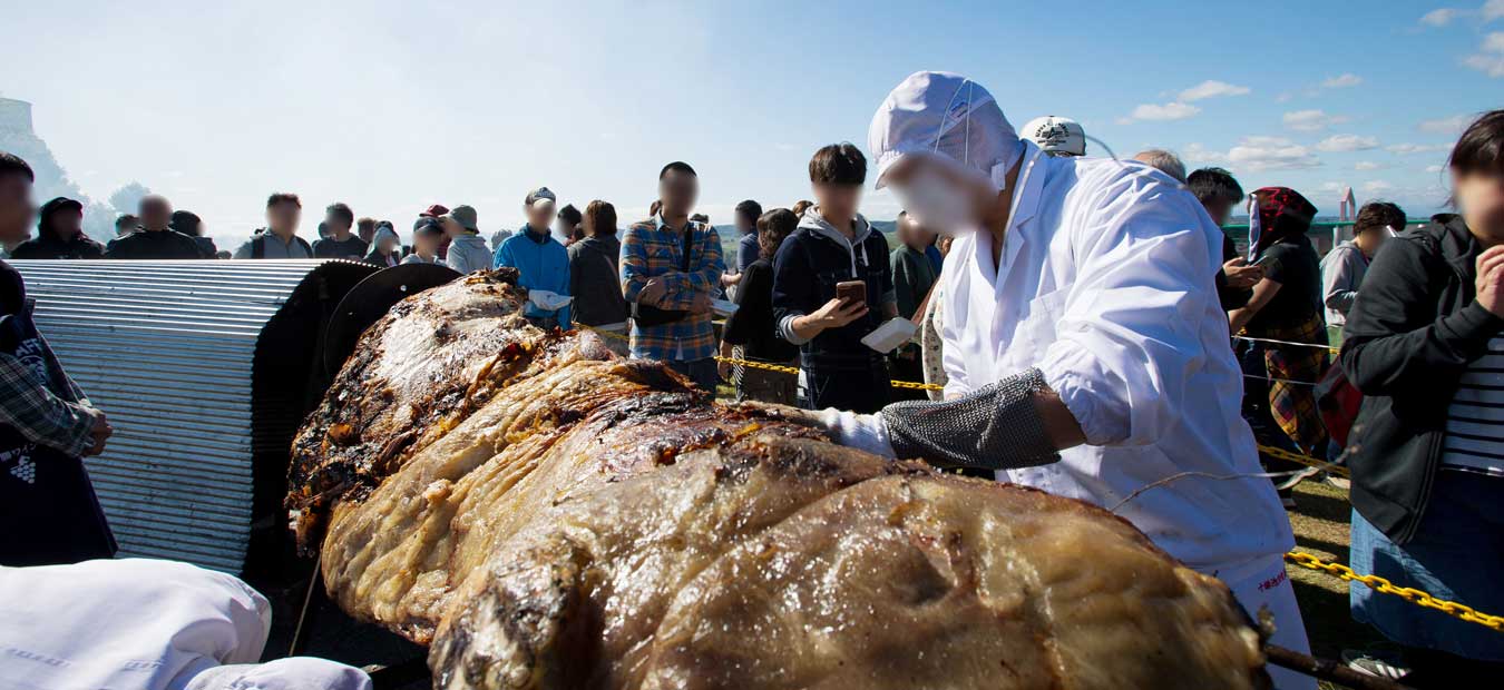
[[[120,556],[242,568],[253,415],[301,415],[253,400],[257,341],[320,263],[12,262],[42,335],[114,425],[87,466]]]

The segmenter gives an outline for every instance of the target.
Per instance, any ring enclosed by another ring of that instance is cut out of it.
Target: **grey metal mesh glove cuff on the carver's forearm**
[[[893,403],[881,415],[898,457],[940,466],[1030,468],[1060,460],[1033,403],[1048,388],[1044,374],[1030,368],[955,400]]]

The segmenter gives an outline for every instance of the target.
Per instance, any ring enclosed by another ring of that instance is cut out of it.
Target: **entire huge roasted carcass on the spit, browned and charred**
[[[298,439],[331,595],[432,643],[436,685],[1266,684],[1227,589],[1126,522],[713,403],[519,295],[402,302]]]

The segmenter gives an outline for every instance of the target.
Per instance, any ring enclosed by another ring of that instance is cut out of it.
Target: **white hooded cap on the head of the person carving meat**
[[[893,87],[872,116],[866,141],[877,161],[878,189],[887,170],[910,153],[935,155],[991,176],[999,165],[1011,168],[1024,149],[993,95],[951,72],[914,72]]]

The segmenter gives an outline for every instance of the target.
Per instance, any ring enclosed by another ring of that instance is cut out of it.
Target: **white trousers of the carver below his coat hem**
[[[1205,573],[1220,577],[1227,589],[1232,589],[1232,595],[1248,612],[1248,618],[1257,621],[1260,609],[1274,616],[1271,645],[1310,654],[1305,624],[1301,621],[1301,607],[1295,601],[1295,588],[1284,570],[1284,556],[1260,556]],[[1268,666],[1268,669],[1274,687],[1278,690],[1316,690],[1316,679],[1305,673],[1275,666]]]

